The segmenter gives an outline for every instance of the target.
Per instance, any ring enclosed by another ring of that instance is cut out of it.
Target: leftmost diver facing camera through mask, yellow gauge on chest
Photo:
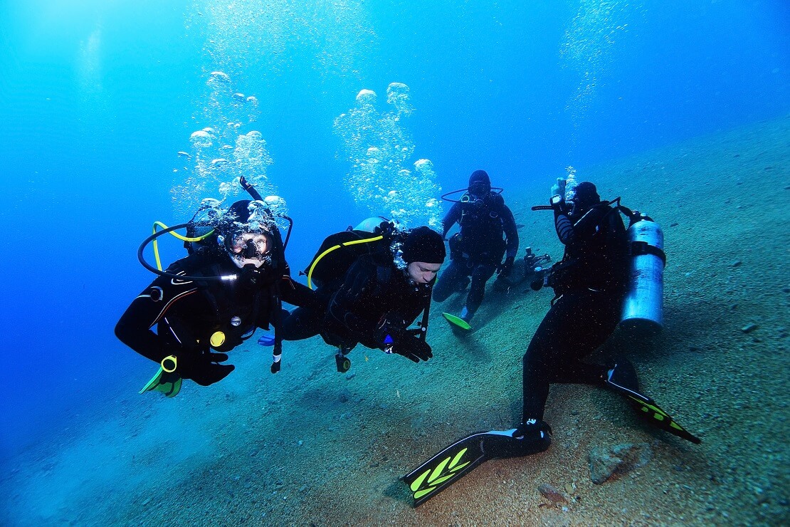
[[[260,198],[257,192],[254,196]],[[115,335],[161,365],[140,393],[157,390],[175,397],[182,378],[201,386],[222,380],[234,370],[224,364],[228,351],[257,328],[273,325],[276,335],[281,299],[309,302],[305,286],[291,280],[284,243],[265,201],[236,201],[227,210],[216,200],[204,203],[205,222],[155,232],[138,250],[143,265],[159,276],[126,309]],[[142,258],[145,246],[182,227],[188,234],[196,228],[206,234],[179,236],[186,240],[189,255],[166,270],[147,264]],[[280,369],[281,341],[276,336],[273,373]]]

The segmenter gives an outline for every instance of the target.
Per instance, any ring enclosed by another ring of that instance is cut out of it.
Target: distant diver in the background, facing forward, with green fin
[[[501,280],[498,288],[510,287],[510,272],[518,252],[518,232],[513,213],[502,198],[502,189],[491,190],[491,179],[486,171],[472,172],[467,189],[450,192],[442,198],[447,199],[457,192],[464,194],[446,214],[442,235],[446,238],[456,223],[461,230],[450,238],[450,266],[436,282],[434,300],[443,302],[453,292],[463,292],[468,287],[461,313],[443,315],[453,329],[469,330],[472,329],[469,322],[483,303],[487,280],[498,273],[497,281]],[[504,262],[503,256],[506,256]]]

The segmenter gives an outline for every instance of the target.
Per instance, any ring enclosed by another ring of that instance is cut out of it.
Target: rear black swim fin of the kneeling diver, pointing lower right
[[[668,431],[670,434],[693,442],[695,445],[702,442],[702,439],[691,435],[689,431],[672,419],[672,416],[664,412],[651,397],[639,392],[639,383],[634,365],[627,360],[621,359],[616,363],[607,372],[607,378],[604,383],[609,389],[626,397],[631,406],[634,407],[634,410],[639,412],[639,415],[648,420],[654,427]]]

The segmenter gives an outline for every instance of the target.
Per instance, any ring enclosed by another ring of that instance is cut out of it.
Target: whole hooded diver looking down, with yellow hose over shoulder
[[[281,334],[292,341],[320,333],[339,348],[335,358],[341,372],[348,371],[346,354],[358,343],[414,362],[430,359],[427,314],[445,256],[442,236],[427,227],[403,232],[371,219],[331,235],[307,269],[308,284],[318,284],[314,306],[288,314]],[[419,329],[408,329],[420,312]]]

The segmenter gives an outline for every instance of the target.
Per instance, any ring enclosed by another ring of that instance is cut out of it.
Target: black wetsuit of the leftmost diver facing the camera
[[[255,329],[268,329],[279,320],[280,297],[300,302],[299,284],[288,276],[287,265],[280,273],[250,272],[236,267],[226,254],[198,250],[171,264],[167,272],[239,277],[228,281],[157,277],[115,326],[115,335],[124,344],[156,363],[175,355],[179,360],[176,372],[199,384],[211,384],[232,371],[230,365],[216,362],[227,359],[222,354],[252,336]],[[224,341],[210,344],[218,331]]]

